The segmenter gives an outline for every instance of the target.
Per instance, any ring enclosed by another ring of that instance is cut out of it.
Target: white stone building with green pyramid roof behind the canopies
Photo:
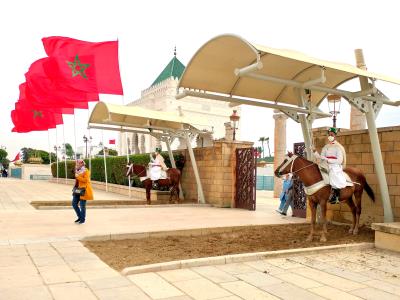
[[[176,89],[178,81],[182,76],[185,66],[176,57],[176,54],[160,73],[153,84],[144,89],[140,99],[128,103],[130,106],[140,106],[147,109],[176,112],[177,115],[186,117],[201,117],[204,119],[206,127],[199,124],[191,124],[198,129],[212,131],[211,134],[193,137],[192,146],[201,147],[212,144],[213,139],[225,137],[226,126],[229,122],[229,116],[233,112],[233,108],[229,104],[221,101],[208,99],[200,99],[197,97],[186,97],[183,100],[176,100]],[[240,108],[234,108],[240,115]],[[228,125],[229,127],[229,125]],[[236,132],[236,139],[240,140],[240,132]],[[127,145],[129,153],[149,153],[154,151],[160,143],[150,135],[144,134],[128,134],[128,143],[126,142],[125,133],[119,134],[117,149],[119,155],[126,155]],[[165,145],[161,145],[163,151],[166,150]],[[183,140],[175,139],[172,143],[172,150],[186,148]]]

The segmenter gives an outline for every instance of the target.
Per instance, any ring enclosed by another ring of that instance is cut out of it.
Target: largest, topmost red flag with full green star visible
[[[45,66],[50,78],[87,92],[94,92],[95,80],[96,92],[123,95],[118,41],[94,43],[59,36],[42,41],[52,59]]]

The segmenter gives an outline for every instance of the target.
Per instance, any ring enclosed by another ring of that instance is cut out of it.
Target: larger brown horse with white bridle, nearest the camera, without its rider
[[[353,215],[353,222],[349,229],[349,234],[358,234],[360,215],[361,215],[361,196],[365,190],[368,196],[373,202],[375,202],[375,195],[371,187],[369,186],[367,179],[365,178],[363,172],[358,168],[348,167],[343,170],[347,173],[353,182],[353,186],[348,186],[340,190],[339,200],[346,201],[351,209]],[[305,188],[318,187],[321,186],[316,192],[308,195],[308,204],[311,209],[311,231],[307,237],[307,241],[311,242],[314,236],[315,219],[317,212],[317,205],[321,207],[321,217],[322,217],[322,235],[320,238],[321,242],[326,242],[326,208],[327,201],[331,193],[331,186],[324,185],[322,173],[319,169],[318,164],[305,159],[304,157],[294,155],[288,152],[285,160],[279,165],[275,170],[275,176],[280,178],[282,175],[292,173],[298,176],[300,181],[303,182]],[[321,184],[319,184],[321,182]],[[354,195],[354,201],[353,201]]]

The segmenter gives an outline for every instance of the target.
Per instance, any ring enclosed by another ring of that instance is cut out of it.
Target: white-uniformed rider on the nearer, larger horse
[[[340,189],[346,187],[346,178],[343,173],[343,163],[345,155],[343,146],[336,141],[336,128],[328,130],[328,141],[321,151],[321,155],[315,151],[316,158],[326,160],[329,166],[329,183],[332,186],[332,193],[329,202],[332,204],[339,203]]]

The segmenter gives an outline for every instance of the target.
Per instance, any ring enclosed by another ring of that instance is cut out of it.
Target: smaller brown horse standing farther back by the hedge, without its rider
[[[138,177],[146,177],[147,170],[145,166],[130,164],[126,166],[126,176],[136,175]],[[167,170],[166,179],[159,179],[158,186],[159,187],[168,187],[170,191],[169,202],[172,203],[172,197],[175,195],[175,203],[179,203],[179,182],[181,180],[181,171],[174,168],[169,168]],[[150,200],[150,190],[153,186],[153,182],[150,178],[147,178],[142,181],[144,188],[146,189],[146,200],[147,204],[151,204]]]

